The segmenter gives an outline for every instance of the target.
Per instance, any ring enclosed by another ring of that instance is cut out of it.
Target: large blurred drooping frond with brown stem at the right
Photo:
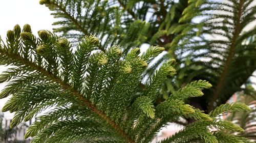
[[[255,19],[252,2],[188,1],[179,22],[203,20],[177,25],[169,32],[178,33],[170,47],[177,55],[177,64],[186,65],[176,68],[175,88],[194,79],[209,81],[213,88],[194,99],[204,103],[201,107],[207,112],[242,90],[241,85],[256,69],[255,41],[249,40],[255,35],[255,26],[247,26]]]

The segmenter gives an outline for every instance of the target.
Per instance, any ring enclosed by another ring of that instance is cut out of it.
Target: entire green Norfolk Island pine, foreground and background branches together
[[[11,66],[0,76],[9,81],[0,98],[11,96],[2,110],[15,112],[15,127],[51,108],[29,127],[32,142],[150,142],[179,118],[195,122],[162,142],[249,142],[218,117],[249,110],[221,104],[255,70],[255,41],[244,42],[255,28],[242,31],[252,2],[42,0],[60,37],[41,30],[37,38],[26,24],[1,39],[0,65]],[[143,43],[152,46],[140,53]]]

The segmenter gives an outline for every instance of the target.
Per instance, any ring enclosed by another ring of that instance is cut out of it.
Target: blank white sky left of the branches
[[[0,35],[4,40],[6,32],[13,30],[15,24],[23,27],[30,24],[32,32],[37,35],[39,30],[52,30],[54,18],[50,15],[50,10],[44,5],[39,5],[39,0],[1,0],[0,1]],[[6,69],[0,66],[0,72]],[[5,84],[0,84],[0,90]],[[7,99],[0,99],[0,109]],[[11,116],[9,113],[7,117]]]

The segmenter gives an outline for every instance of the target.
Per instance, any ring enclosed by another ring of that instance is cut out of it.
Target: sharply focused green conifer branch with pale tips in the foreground
[[[29,31],[27,27],[30,26],[26,25],[23,31]],[[49,31],[39,31],[38,35],[36,38],[32,33],[21,32],[20,37],[9,36],[7,44],[2,41],[0,48],[1,65],[11,66],[0,76],[2,82],[10,81],[0,96],[12,96],[2,109],[15,112],[10,126],[52,108],[28,128],[25,138],[32,136],[31,142],[150,142],[162,126],[180,117],[197,121],[164,142],[217,142],[220,135],[215,136],[210,127],[243,131],[213,115],[246,110],[246,106],[232,105],[230,109],[223,105],[209,117],[185,103],[211,87],[205,80],[191,82],[155,104],[166,76],[176,72],[175,60],[163,63],[139,91],[145,68],[163,51],[161,47],[153,46],[142,54],[134,48],[121,58],[121,49],[116,46],[106,52],[94,51],[99,40],[93,36],[82,39],[72,52],[67,39]],[[11,46],[10,41],[19,43]],[[220,138],[226,136],[230,134]]]

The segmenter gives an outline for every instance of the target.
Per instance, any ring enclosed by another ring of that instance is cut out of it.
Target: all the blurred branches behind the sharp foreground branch
[[[256,32],[255,21],[247,26],[255,19],[252,0],[44,0],[40,4],[57,18],[54,32],[73,42],[95,35],[102,39],[102,51],[112,45],[120,45],[124,53],[143,43],[164,47],[167,52],[146,75],[169,58],[176,59],[178,74],[165,82],[162,95],[168,97],[193,80],[205,79],[213,87],[188,102],[207,112],[242,90],[255,71],[255,40],[244,42]]]

